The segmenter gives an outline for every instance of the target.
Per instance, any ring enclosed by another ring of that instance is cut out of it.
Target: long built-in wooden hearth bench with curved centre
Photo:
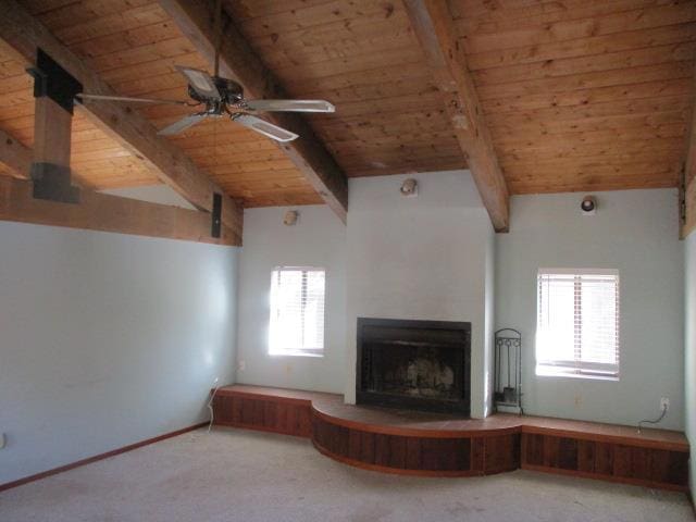
[[[215,424],[307,437],[338,461],[390,473],[468,476],[519,468],[687,490],[679,432],[495,414],[486,419],[345,405],[332,394],[220,388]]]

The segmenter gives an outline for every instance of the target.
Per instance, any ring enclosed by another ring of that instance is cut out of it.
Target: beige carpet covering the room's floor
[[[357,470],[303,439],[200,430],[0,494],[0,521],[694,520],[683,494],[525,471],[417,478]]]

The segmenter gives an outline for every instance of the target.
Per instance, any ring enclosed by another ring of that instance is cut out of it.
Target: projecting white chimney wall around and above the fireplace
[[[407,177],[419,182],[417,198],[399,194]],[[470,321],[471,412],[484,417],[493,228],[471,175],[353,178],[349,188],[346,401],[356,397],[357,318]]]

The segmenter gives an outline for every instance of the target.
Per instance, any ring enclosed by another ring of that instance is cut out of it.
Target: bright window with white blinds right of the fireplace
[[[619,378],[619,272],[538,272],[536,374]]]

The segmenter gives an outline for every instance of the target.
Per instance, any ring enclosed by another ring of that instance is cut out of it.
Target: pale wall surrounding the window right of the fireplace
[[[663,427],[684,426],[684,253],[675,189],[599,192],[594,216],[581,194],[515,196],[511,229],[496,236],[496,324],[522,332],[525,412],[636,424],[671,409]],[[619,382],[536,377],[536,272],[619,269]]]

